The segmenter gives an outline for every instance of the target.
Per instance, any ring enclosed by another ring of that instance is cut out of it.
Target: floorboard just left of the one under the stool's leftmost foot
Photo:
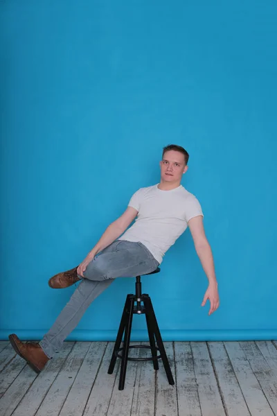
[[[107,343],[91,343],[59,416],[82,416]]]

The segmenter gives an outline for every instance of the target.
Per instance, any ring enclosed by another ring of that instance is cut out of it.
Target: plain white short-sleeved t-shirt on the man
[[[118,240],[141,241],[159,263],[188,227],[188,221],[203,216],[197,198],[182,185],[170,191],[162,191],[158,184],[141,188],[128,206],[139,213],[132,227]]]

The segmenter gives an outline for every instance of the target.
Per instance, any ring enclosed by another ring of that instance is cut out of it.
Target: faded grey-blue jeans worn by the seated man
[[[84,279],[75,289],[69,302],[44,335],[39,345],[52,358],[65,338],[77,326],[91,302],[116,279],[153,272],[159,266],[148,248],[140,241],[114,241],[96,255],[84,271]]]

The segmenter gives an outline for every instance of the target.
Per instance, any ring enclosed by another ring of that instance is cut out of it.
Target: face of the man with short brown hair
[[[168,150],[160,162],[161,179],[164,182],[181,182],[181,177],[188,170],[183,153]]]

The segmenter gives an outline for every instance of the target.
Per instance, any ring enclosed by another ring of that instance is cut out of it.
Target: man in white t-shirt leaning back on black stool
[[[136,191],[126,211],[107,227],[84,261],[48,281],[51,288],[66,288],[82,279],[40,343],[21,343],[15,333],[9,336],[17,354],[35,372],[40,372],[62,347],[89,304],[116,277],[145,275],[156,270],[165,252],[187,227],[209,282],[202,306],[210,300],[209,315],[218,308],[213,255],[204,232],[202,209],[197,198],[180,184],[188,170],[188,157],[181,146],[172,144],[163,148],[160,183]]]

